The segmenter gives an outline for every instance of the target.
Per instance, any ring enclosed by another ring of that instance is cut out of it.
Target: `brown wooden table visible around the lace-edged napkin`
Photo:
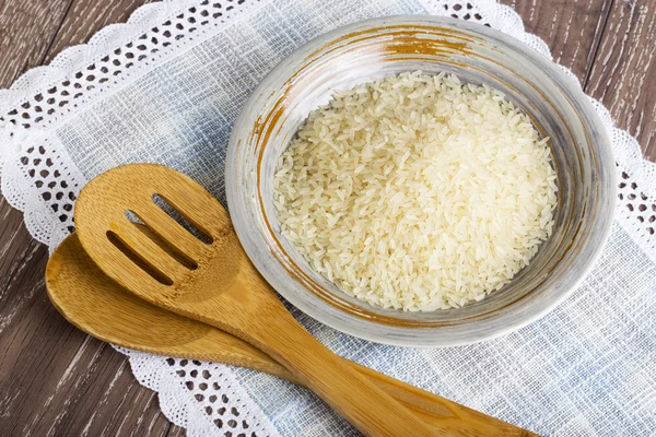
[[[126,21],[145,2],[0,0],[0,87],[103,26]],[[656,1],[504,2],[654,161]],[[44,287],[48,250],[2,198],[0,217],[0,436],[184,435],[122,355],[50,306]]]

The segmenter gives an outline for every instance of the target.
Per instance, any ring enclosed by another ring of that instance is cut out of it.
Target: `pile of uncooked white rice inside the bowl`
[[[282,233],[371,304],[481,300],[551,234],[547,142],[503,94],[455,75],[405,73],[338,92],[278,163]]]

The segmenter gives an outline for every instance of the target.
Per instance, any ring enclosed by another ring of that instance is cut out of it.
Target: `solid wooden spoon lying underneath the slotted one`
[[[148,228],[144,232],[149,233]],[[165,356],[249,367],[300,382],[286,368],[245,341],[132,295],[98,269],[75,234],[66,238],[50,257],[46,286],[59,312],[96,339]],[[364,366],[347,363],[442,435],[532,435]]]

